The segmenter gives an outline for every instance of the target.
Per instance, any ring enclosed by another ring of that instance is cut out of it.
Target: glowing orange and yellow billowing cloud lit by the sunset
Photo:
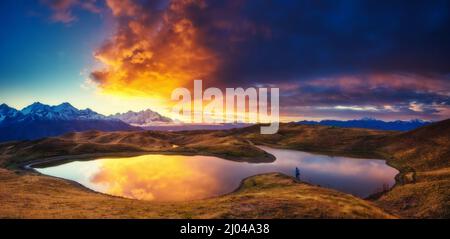
[[[92,72],[105,93],[169,99],[177,87],[208,78],[217,57],[200,44],[188,7],[203,1],[172,1],[164,10],[137,1],[107,0],[117,30],[95,53],[103,68]]]

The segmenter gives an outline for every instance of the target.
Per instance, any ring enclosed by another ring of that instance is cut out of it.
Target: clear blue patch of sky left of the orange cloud
[[[75,99],[85,106],[90,93],[80,89],[86,78],[80,73],[92,66],[92,53],[106,37],[102,17],[77,11],[80,20],[61,24],[39,1],[0,5],[0,102],[20,108]]]

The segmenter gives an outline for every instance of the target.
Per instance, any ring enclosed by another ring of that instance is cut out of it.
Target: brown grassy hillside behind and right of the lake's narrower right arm
[[[406,133],[296,124],[282,125],[276,135],[257,132],[235,131],[272,147],[387,159],[401,174],[378,205],[404,217],[450,218],[450,120]]]

